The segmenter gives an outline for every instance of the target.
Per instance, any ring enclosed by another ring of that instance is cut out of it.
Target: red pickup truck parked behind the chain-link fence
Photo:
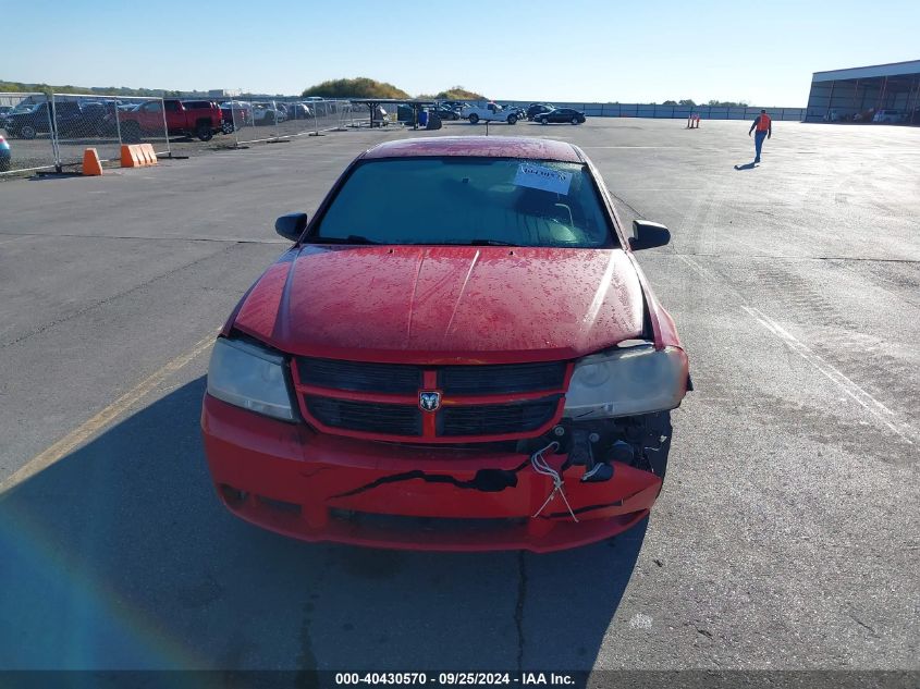
[[[203,142],[209,142],[223,131],[220,107],[210,100],[148,100],[137,110],[119,111],[119,121],[122,138],[126,142],[138,142],[145,134],[161,135],[164,121],[169,134],[197,136]]]

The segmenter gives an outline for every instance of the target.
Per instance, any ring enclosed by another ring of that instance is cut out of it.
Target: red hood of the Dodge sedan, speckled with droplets
[[[419,364],[571,359],[642,332],[622,249],[305,246],[233,327],[283,352]]]

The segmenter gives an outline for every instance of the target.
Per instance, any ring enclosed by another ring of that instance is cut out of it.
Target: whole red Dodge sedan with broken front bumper
[[[308,541],[545,552],[649,514],[687,356],[585,153],[438,137],[359,156],[243,297],[201,427],[235,515]]]

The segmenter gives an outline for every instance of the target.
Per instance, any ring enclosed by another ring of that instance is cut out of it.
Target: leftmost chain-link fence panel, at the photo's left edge
[[[45,94],[0,93],[0,174],[54,167],[52,107]]]

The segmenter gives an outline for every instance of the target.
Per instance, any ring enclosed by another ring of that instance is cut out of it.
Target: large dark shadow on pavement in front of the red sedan
[[[645,522],[542,556],[282,538],[219,504],[204,390],[179,387],[0,495],[0,668],[592,667]]]

